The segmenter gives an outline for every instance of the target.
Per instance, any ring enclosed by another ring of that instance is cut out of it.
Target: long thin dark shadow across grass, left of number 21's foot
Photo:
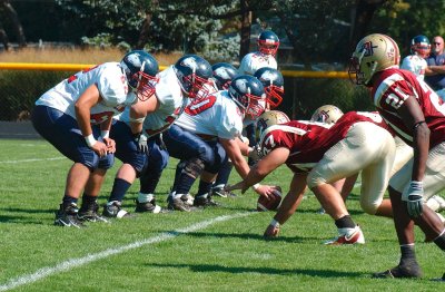
[[[340,272],[335,270],[309,270],[309,269],[275,269],[275,267],[250,267],[250,266],[224,266],[218,264],[146,264],[152,267],[167,269],[189,269],[197,273],[224,272],[233,274],[241,273],[259,273],[271,275],[308,275],[319,278],[364,278],[367,273],[359,272]]]

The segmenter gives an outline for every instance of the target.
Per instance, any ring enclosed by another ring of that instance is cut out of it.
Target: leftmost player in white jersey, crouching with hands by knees
[[[158,62],[147,52],[126,55],[77,72],[44,93],[32,114],[36,130],[73,162],[55,224],[81,227],[81,221],[103,221],[97,196],[113,164],[112,116],[144,100],[154,90]],[[82,206],[77,206],[80,194]]]

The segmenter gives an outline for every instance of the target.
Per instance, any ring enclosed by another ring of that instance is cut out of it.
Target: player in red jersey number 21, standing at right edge
[[[370,88],[372,100],[395,134],[414,148],[414,157],[389,181],[399,264],[377,278],[421,278],[414,249],[414,223],[445,251],[445,228],[424,202],[445,188],[445,106],[414,74],[398,69],[399,50],[388,36],[363,38],[350,60],[349,77]],[[442,280],[445,280],[443,276]]]

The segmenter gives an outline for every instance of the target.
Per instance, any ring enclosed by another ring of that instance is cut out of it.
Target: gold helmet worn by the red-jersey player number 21
[[[397,43],[388,36],[373,33],[357,43],[350,58],[349,78],[357,85],[369,85],[374,74],[396,67],[399,61]]]

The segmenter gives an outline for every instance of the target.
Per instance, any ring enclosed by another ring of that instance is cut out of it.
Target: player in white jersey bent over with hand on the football
[[[246,116],[255,118],[264,111],[264,99],[261,82],[253,76],[241,75],[230,82],[228,90],[187,106],[185,114],[164,134],[169,154],[184,162],[182,171],[175,178],[169,208],[189,212],[190,203],[195,206],[214,205],[210,188],[227,158],[241,177],[246,176],[249,166],[243,154],[248,154],[248,147],[245,145],[241,150],[243,143],[238,137],[243,119]],[[201,174],[199,191],[192,201],[189,191]],[[258,194],[266,196],[271,189],[269,186],[256,187]]]

